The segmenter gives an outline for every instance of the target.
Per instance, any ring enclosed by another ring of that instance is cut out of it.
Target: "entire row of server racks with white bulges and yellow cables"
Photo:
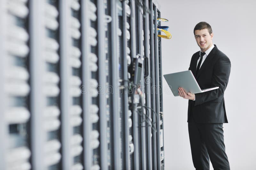
[[[1,0],[0,170],[163,170],[160,14],[156,0]]]

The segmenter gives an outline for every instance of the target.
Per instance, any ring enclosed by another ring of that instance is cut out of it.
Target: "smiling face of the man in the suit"
[[[202,52],[205,52],[212,46],[213,33],[208,32],[208,29],[195,30],[196,43]]]

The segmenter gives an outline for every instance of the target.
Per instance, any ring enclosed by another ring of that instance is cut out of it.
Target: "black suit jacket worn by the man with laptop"
[[[195,94],[196,100],[188,100],[188,122],[192,115],[196,123],[228,123],[224,91],[228,85],[231,63],[216,45],[204,60],[196,75],[196,63],[199,51],[193,54],[189,66],[201,89],[219,87],[219,89]]]

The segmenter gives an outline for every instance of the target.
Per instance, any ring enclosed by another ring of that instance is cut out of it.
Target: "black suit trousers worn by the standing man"
[[[202,124],[190,119],[188,133],[196,170],[209,170],[209,157],[214,170],[230,170],[225,152],[222,123]]]

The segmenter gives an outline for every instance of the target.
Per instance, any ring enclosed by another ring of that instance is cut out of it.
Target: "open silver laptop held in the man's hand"
[[[167,81],[174,96],[179,96],[179,87],[182,87],[187,94],[188,92],[190,92],[191,94],[203,93],[206,91],[219,88],[213,87],[201,90],[191,70],[171,74],[164,74],[164,78]]]

